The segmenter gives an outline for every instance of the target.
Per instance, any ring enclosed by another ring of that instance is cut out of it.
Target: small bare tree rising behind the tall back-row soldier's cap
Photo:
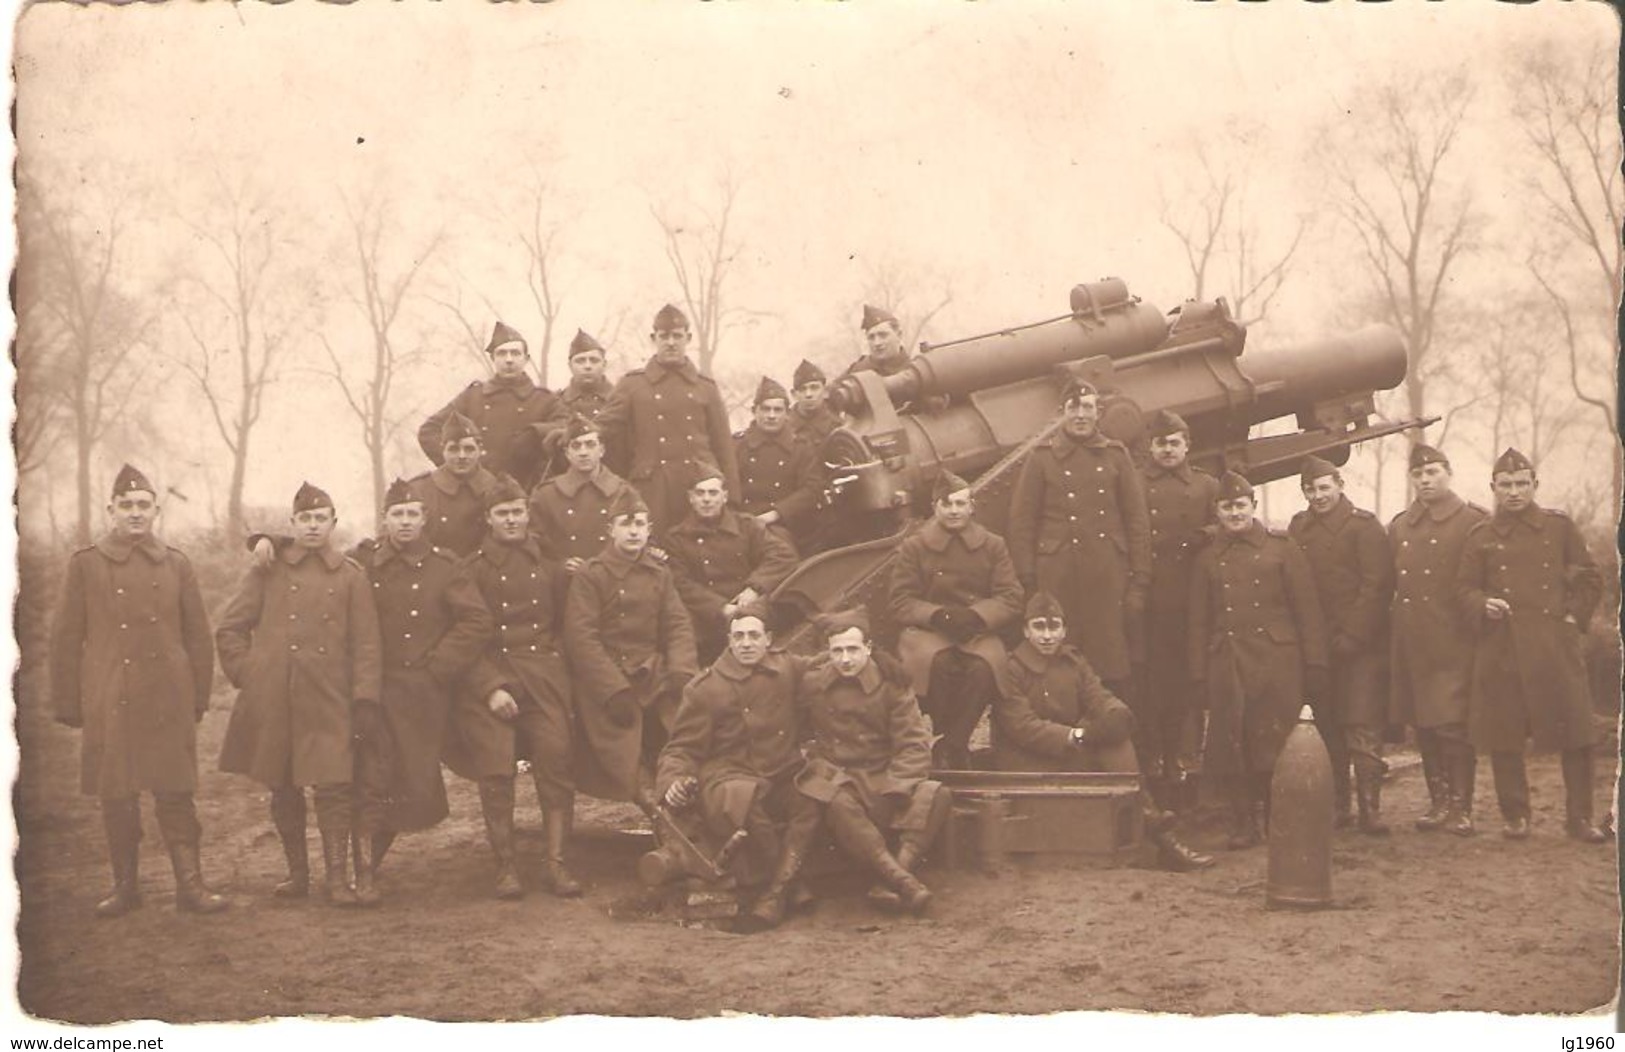
[[[650,205],[660,226],[666,263],[682,291],[682,307],[694,325],[696,354],[700,372],[710,376],[722,346],[723,332],[738,319],[754,314],[728,304],[728,275],[743,246],[733,233],[733,208],[739,184],[733,176],[717,182],[717,203],[699,208],[697,224],[684,223],[670,206]]]

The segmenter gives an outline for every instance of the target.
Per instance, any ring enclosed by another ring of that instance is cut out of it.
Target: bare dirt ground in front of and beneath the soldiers
[[[29,686],[24,675],[18,993],[46,1019],[1578,1013],[1618,989],[1615,849],[1562,836],[1554,756],[1531,763],[1536,836],[1523,844],[1497,836],[1487,764],[1482,832],[1469,841],[1409,828],[1424,785],[1415,766],[1401,771],[1384,800],[1394,836],[1339,834],[1331,911],[1266,911],[1266,852],[1254,849],[1222,852],[1196,875],[1035,863],[996,876],[928,872],[938,898],[925,919],[876,914],[860,880],[832,876],[814,885],[814,912],[746,937],[640,909],[644,841],[614,832],[618,813],[592,802],[574,852],[583,898],[488,898],[478,798],[450,776],[452,818],[390,852],[382,907],[278,902],[270,889],[283,862],[263,790],[211,771],[228,715],[216,709],[202,725],[198,803],[205,873],[232,909],[174,912],[146,805],[146,907],[96,920],[109,873],[94,802],[76,793],[76,735],[44,717]],[[1599,764],[1599,813],[1612,771],[1612,759]],[[520,862],[533,873],[541,844],[528,790],[520,806]],[[1219,849],[1217,816],[1190,839]]]

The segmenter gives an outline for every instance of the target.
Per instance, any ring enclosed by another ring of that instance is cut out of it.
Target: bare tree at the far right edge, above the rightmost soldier
[[[1615,55],[1601,39],[1575,54],[1552,44],[1519,55],[1508,86],[1513,114],[1534,151],[1529,185],[1550,233],[1529,272],[1558,322],[1575,398],[1592,406],[1612,444],[1614,507],[1620,502],[1618,416],[1614,392],[1620,338],[1620,137]],[[1562,272],[1570,262],[1571,275]]]

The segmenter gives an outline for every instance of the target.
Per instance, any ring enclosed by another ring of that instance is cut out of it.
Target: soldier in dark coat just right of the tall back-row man
[[[765,376],[756,385],[751,416],[751,426],[733,436],[739,511],[795,541],[806,535],[817,506],[817,447],[790,426],[790,395]]]

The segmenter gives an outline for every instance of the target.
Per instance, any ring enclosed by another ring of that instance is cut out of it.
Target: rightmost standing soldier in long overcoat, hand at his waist
[[[1597,733],[1581,636],[1602,593],[1586,540],[1573,519],[1534,502],[1534,465],[1516,449],[1492,468],[1495,515],[1467,533],[1456,592],[1476,624],[1472,745],[1490,754],[1503,836],[1529,836],[1524,743],[1562,750],[1568,836],[1601,844],[1591,823]]]

